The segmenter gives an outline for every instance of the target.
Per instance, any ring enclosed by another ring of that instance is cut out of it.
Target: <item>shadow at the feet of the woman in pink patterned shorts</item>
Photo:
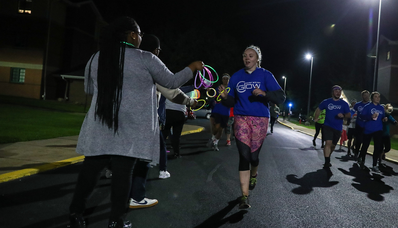
[[[239,212],[227,218],[224,217],[228,215],[228,213],[238,205],[239,198],[228,202],[227,207],[223,208],[221,211],[217,212],[216,214],[210,216],[210,218],[208,218],[206,221],[204,221],[199,226],[196,226],[195,228],[218,228],[226,223],[230,224],[238,223],[240,220],[243,219],[243,215],[247,213],[247,210],[240,210]]]

